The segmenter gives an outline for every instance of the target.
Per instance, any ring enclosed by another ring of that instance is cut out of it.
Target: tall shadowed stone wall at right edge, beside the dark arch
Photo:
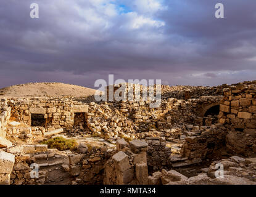
[[[229,129],[226,145],[234,153],[256,153],[256,82],[237,84],[223,89],[220,123]]]

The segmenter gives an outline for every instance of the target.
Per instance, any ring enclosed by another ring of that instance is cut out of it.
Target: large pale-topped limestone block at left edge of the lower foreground
[[[12,172],[12,167],[15,162],[15,155],[6,153],[4,151],[0,152],[0,173],[10,174]]]

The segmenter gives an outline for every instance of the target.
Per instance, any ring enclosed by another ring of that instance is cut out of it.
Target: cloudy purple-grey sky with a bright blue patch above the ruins
[[[30,4],[39,18],[30,18]],[[215,18],[215,4],[225,18]],[[1,0],[0,87],[96,79],[256,79],[255,0]]]

